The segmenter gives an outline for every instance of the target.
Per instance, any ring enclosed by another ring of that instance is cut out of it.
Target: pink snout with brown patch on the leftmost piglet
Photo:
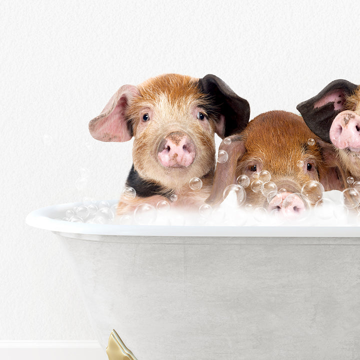
[[[157,157],[166,167],[187,167],[192,164],[195,155],[194,143],[186,133],[180,131],[166,135],[157,148]]]

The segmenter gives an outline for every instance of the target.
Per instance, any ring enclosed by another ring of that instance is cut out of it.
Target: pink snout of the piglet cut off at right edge
[[[360,151],[360,116],[350,110],[341,111],[332,121],[329,134],[337,148]]]

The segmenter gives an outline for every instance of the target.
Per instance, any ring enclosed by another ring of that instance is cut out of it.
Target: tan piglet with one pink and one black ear
[[[89,122],[97,140],[134,137],[130,191],[121,196],[117,213],[164,199],[176,207],[201,205],[213,180],[214,134],[223,138],[241,131],[249,112],[248,102],[211,74],[164,74],[121,86]]]

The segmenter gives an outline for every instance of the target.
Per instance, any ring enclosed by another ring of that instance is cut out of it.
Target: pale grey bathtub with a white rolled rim
[[[103,347],[115,329],[138,360],[360,357],[359,226],[55,220],[73,205],[26,222],[64,244]]]

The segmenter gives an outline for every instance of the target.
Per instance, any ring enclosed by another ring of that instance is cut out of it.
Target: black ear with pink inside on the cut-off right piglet
[[[300,102],[296,108],[309,129],[323,140],[330,142],[329,130],[335,116],[344,110],[345,99],[357,85],[347,80],[334,80],[317,95]]]

